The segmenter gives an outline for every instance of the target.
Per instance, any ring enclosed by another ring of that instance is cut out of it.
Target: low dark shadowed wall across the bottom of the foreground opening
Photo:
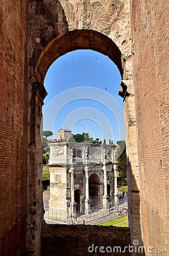
[[[125,246],[130,245],[130,230],[116,226],[43,224],[41,241],[43,256],[111,254],[118,256],[122,254],[120,247],[122,251]],[[100,249],[101,246],[103,247]],[[114,246],[120,246],[118,252],[117,247],[113,252]],[[127,249],[125,255],[130,255]]]

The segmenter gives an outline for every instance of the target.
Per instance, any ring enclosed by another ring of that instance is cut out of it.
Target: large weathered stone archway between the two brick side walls
[[[33,1],[29,3],[28,22],[28,218],[27,245],[36,248],[40,244],[40,227],[43,222],[43,201],[41,184],[41,108],[47,96],[43,82],[48,68],[58,57],[76,49],[92,49],[107,55],[118,67],[123,80],[121,96],[130,95],[124,100],[126,130],[132,134],[127,138],[126,151],[129,173],[137,174],[136,122],[133,95],[132,53],[130,51],[130,9],[128,0],[106,0],[105,5],[98,1],[103,18],[98,23],[95,5],[79,5],[76,2]],[[108,7],[109,6],[109,7]],[[88,9],[89,8],[89,9]],[[83,10],[82,10],[83,9]],[[77,11],[76,11],[77,10]],[[100,12],[99,10],[99,12]],[[83,15],[81,15],[83,14]],[[79,15],[79,16],[78,16]],[[128,89],[129,94],[126,93]],[[33,122],[32,122],[33,115]],[[36,179],[35,179],[36,177]],[[33,183],[32,183],[33,180]],[[132,191],[135,180],[129,175],[129,203],[132,208]],[[138,182],[137,182],[138,185]],[[139,191],[139,190],[138,190]],[[139,197],[137,193],[137,197]],[[135,198],[135,197],[134,197]],[[138,199],[139,200],[139,199]],[[136,199],[136,201],[138,201]],[[36,210],[34,209],[35,202]],[[32,214],[33,212],[33,214]],[[130,211],[133,222],[133,210]],[[136,213],[137,214],[137,213]],[[138,219],[138,218],[137,218]],[[138,220],[139,222],[140,220]],[[133,226],[131,229],[133,230]],[[29,239],[29,237],[35,239]],[[34,249],[33,249],[34,250]],[[36,250],[36,249],[35,249]],[[38,249],[37,249],[38,250]]]

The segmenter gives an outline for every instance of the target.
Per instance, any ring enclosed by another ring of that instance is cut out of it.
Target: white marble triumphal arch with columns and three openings
[[[117,201],[115,145],[50,143],[49,209],[90,211]]]

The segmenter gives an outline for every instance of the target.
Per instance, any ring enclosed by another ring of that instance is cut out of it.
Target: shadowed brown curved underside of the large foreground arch
[[[77,49],[91,49],[107,55],[123,77],[125,60],[111,39],[94,30],[74,30],[58,36],[41,53],[37,63],[37,79],[43,82],[48,68],[58,57]]]

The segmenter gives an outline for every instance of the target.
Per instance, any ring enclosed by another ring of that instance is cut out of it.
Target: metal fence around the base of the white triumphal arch
[[[60,209],[49,209],[49,202],[48,200],[44,200],[44,219],[51,220],[51,221],[59,221],[63,223],[70,224],[71,220],[73,222],[78,221],[78,223],[82,223],[83,219],[85,221],[95,220],[96,218],[104,217],[109,214],[114,214],[120,212],[121,209],[127,207],[127,197],[120,199],[117,203],[109,202],[105,207],[103,205],[97,205],[95,207],[90,208],[89,213],[83,212],[74,212],[71,218],[66,217],[66,210]]]

